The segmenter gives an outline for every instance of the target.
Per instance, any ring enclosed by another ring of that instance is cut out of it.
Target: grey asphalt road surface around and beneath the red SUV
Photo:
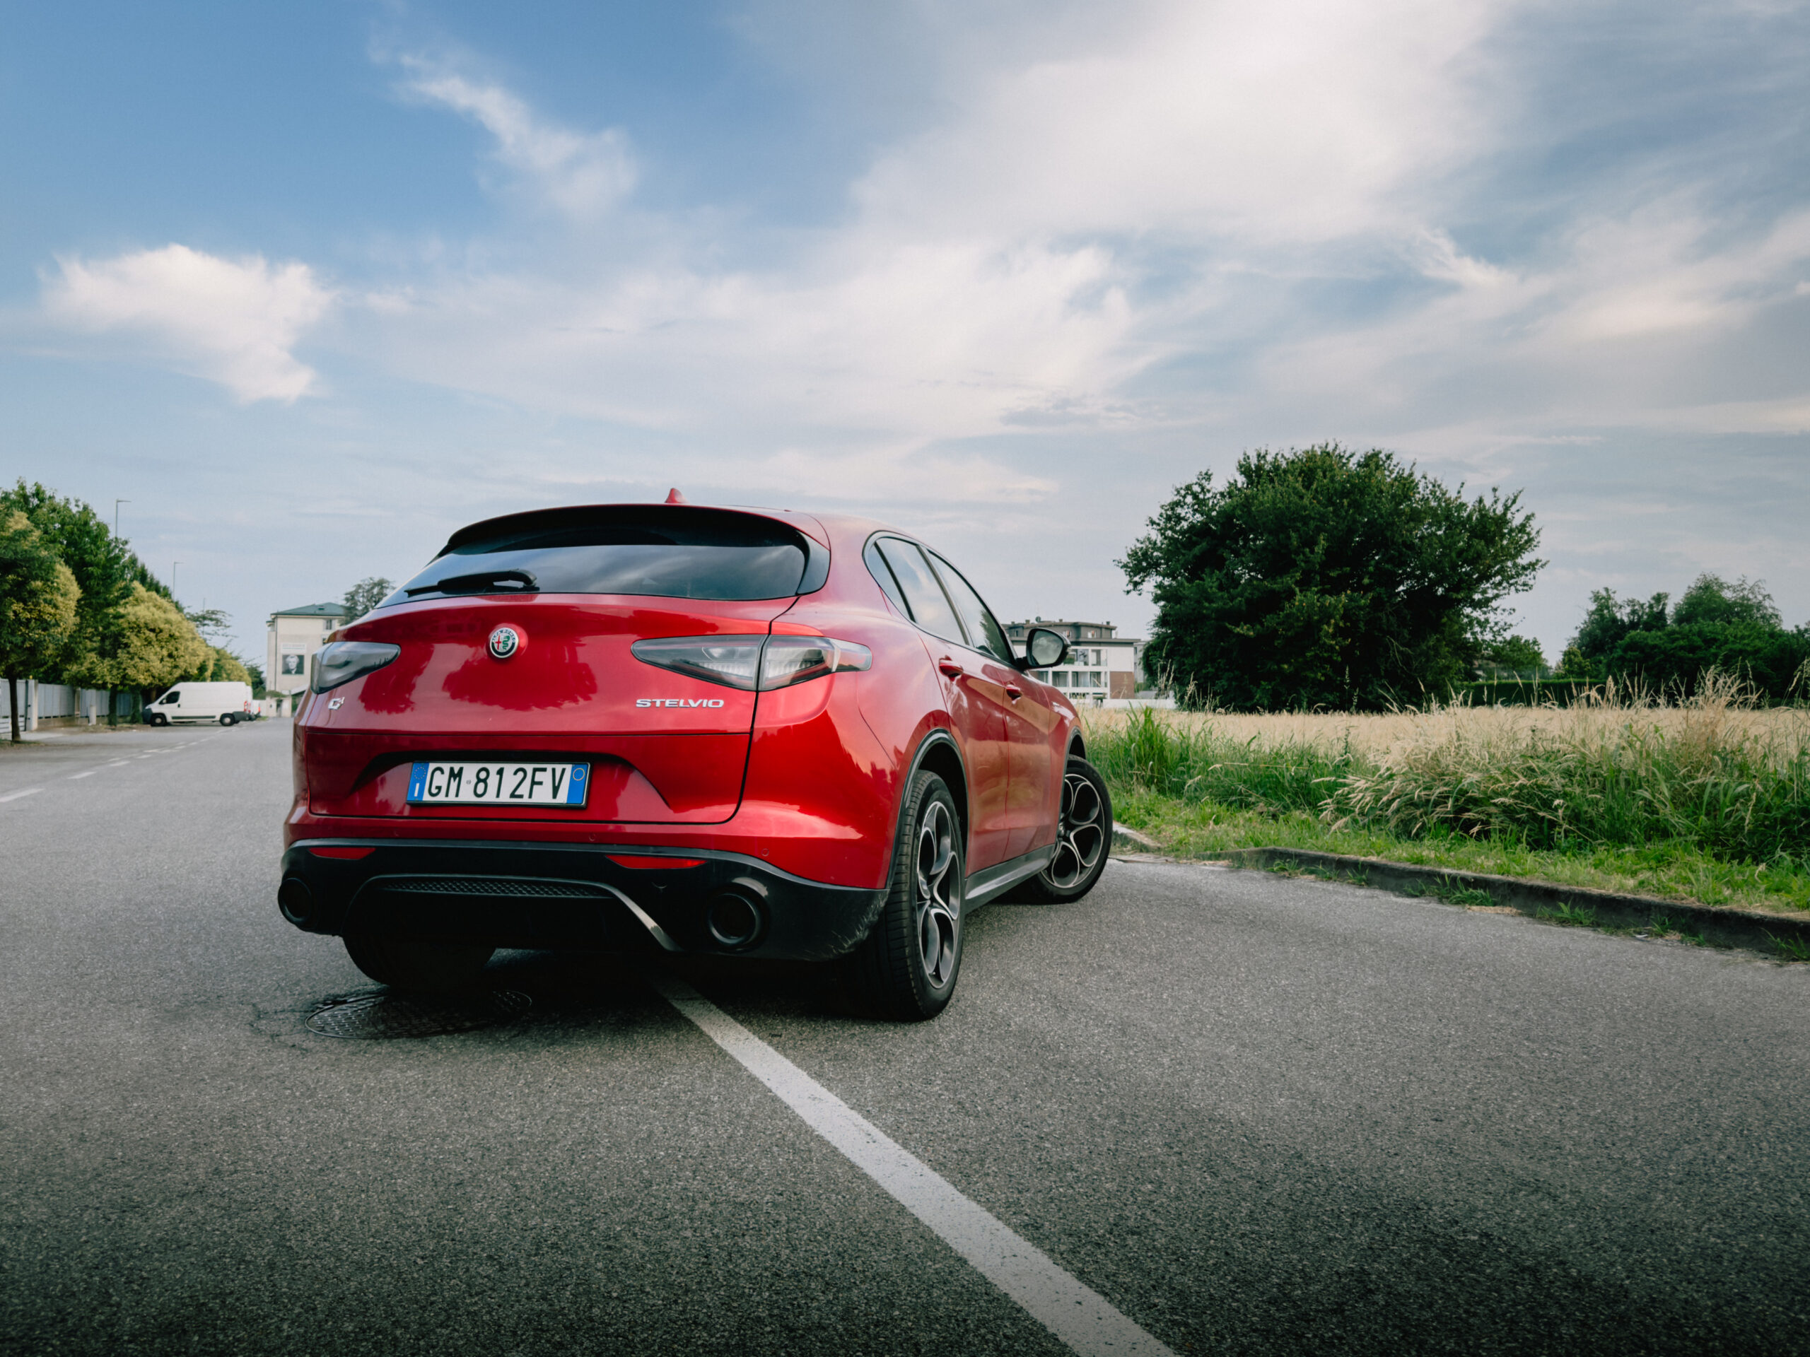
[[[286,722],[0,751],[5,1352],[1066,1352],[648,959],[313,1033],[373,986],[277,914],[288,780]],[[1810,1352],[1806,966],[1115,863],[936,1022],[681,975],[1175,1352]]]

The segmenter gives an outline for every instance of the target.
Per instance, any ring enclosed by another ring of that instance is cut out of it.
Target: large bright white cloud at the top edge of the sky
[[[1327,241],[1417,226],[1490,125],[1464,58],[1500,0],[1140,5],[1111,42],[986,72],[858,186],[876,219],[988,233]]]

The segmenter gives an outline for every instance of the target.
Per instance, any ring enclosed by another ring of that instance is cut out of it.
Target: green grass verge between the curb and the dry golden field
[[[1119,821],[1184,858],[1310,849],[1810,910],[1805,747],[1768,747],[1738,722],[1638,715],[1495,742],[1450,727],[1368,758],[1348,736],[1238,740],[1213,720],[1138,711],[1090,729],[1088,754]]]

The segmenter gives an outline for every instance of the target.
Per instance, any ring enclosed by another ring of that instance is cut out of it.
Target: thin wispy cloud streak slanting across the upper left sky
[[[501,85],[471,80],[424,56],[402,56],[402,90],[462,114],[496,138],[496,159],[568,217],[590,219],[635,186],[635,159],[619,128],[572,132],[538,118]]]

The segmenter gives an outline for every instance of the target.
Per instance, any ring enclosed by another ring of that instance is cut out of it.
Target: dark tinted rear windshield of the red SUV
[[[460,528],[384,606],[456,593],[780,599],[798,592],[804,566],[804,536],[753,514],[677,505],[545,510]]]

